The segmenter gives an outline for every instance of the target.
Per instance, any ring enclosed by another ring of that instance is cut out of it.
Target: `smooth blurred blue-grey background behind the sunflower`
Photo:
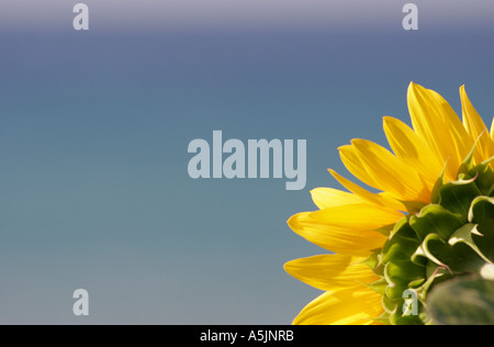
[[[285,221],[338,187],[336,148],[385,144],[411,80],[492,120],[492,1],[416,1],[417,32],[400,1],[246,2],[87,1],[89,32],[75,2],[2,2],[0,324],[289,324],[318,291],[283,264],[326,251]],[[306,138],[306,188],[190,179],[213,130]]]

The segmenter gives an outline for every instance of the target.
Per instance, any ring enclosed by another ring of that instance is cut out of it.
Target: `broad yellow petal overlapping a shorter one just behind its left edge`
[[[428,202],[430,191],[413,167],[373,142],[353,139],[351,145],[369,176],[377,182],[375,188],[402,201]]]

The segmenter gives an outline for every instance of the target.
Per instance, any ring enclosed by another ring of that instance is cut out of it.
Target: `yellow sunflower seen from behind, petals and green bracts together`
[[[429,324],[427,294],[494,260],[494,122],[487,130],[460,88],[462,120],[437,92],[411,83],[412,127],[385,116],[392,152],[366,139],[339,147],[369,191],[329,169],[348,191],[311,191],[317,211],[289,226],[332,254],[285,264],[324,291],[294,324]],[[494,120],[493,120],[494,121]],[[404,307],[408,291],[418,310]]]

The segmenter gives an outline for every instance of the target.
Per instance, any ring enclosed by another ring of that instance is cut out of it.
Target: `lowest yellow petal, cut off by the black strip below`
[[[307,304],[293,324],[301,325],[368,325],[382,312],[382,296],[371,289],[343,289],[325,292]]]

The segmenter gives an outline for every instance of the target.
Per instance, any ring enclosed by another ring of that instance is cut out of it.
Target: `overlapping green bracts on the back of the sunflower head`
[[[383,248],[367,260],[381,276],[381,280],[370,284],[383,295],[385,312],[377,321],[385,324],[473,323],[474,317],[470,321],[464,317],[465,311],[457,312],[463,321],[447,317],[454,315],[451,313],[454,310],[446,307],[447,301],[454,300],[456,295],[433,295],[441,300],[429,302],[429,293],[434,294],[436,290],[448,292],[446,286],[441,289],[441,283],[480,279],[487,284],[456,284],[454,290],[470,288],[472,298],[493,295],[484,299],[487,303],[494,302],[494,290],[485,290],[492,289],[494,283],[494,267],[490,266],[494,261],[494,171],[491,160],[474,166],[469,156],[456,181],[445,182],[442,177],[439,178],[430,204],[406,204],[414,205],[418,212],[411,212],[396,223]],[[479,288],[484,290],[479,292]],[[449,306],[459,305],[451,302]],[[492,317],[493,307],[481,307],[485,312],[472,314]]]

